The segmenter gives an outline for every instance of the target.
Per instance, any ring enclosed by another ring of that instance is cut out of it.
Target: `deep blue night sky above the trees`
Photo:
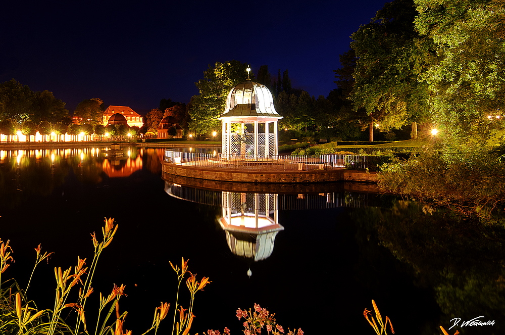
[[[336,87],[352,32],[384,0],[9,1],[0,19],[0,82],[12,78],[67,103],[100,98],[145,113],[187,103],[209,64],[289,71],[311,95]]]

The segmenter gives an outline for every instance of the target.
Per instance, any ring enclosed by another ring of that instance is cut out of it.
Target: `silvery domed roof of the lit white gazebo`
[[[267,86],[247,79],[230,90],[220,119],[251,116],[282,118],[275,111],[272,93]]]

